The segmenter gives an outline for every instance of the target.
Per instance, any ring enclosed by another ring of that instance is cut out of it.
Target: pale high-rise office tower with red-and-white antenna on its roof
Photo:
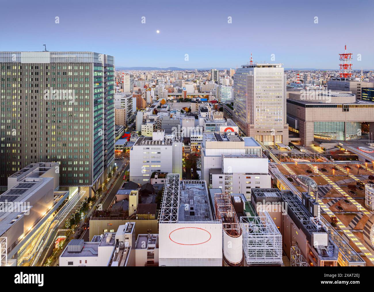
[[[282,64],[249,64],[234,74],[234,122],[264,145],[288,145]]]

